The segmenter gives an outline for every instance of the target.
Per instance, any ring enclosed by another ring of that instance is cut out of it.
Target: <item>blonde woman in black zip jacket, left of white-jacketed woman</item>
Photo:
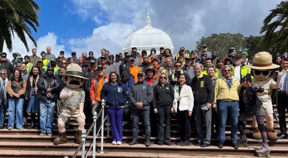
[[[171,145],[170,138],[170,117],[174,100],[174,90],[168,83],[168,76],[162,72],[159,75],[158,83],[154,86],[154,97],[152,100],[154,113],[158,117],[157,141],[158,145]],[[153,120],[154,121],[154,120]],[[165,124],[165,127],[163,126]]]

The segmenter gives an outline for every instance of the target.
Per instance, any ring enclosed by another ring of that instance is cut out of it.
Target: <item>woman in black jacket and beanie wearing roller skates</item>
[[[257,93],[264,92],[264,89],[259,88],[258,86],[251,86],[251,82],[251,74],[247,74],[242,79],[243,86],[241,87],[239,96],[240,115],[238,116],[238,130],[240,132],[240,138],[238,139],[238,143],[244,143],[245,146],[247,145],[247,137],[244,134],[243,121],[255,116],[263,141],[262,147],[257,151],[270,151],[267,141],[267,133],[264,127],[265,113],[262,107],[262,102],[257,96]]]

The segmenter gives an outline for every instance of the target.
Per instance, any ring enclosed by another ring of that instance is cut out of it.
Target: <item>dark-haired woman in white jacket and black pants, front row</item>
[[[193,92],[190,86],[187,86],[185,74],[178,76],[178,84],[174,88],[174,101],[171,113],[176,116],[178,124],[180,125],[181,142],[176,145],[188,146],[190,145],[190,116],[194,105]]]

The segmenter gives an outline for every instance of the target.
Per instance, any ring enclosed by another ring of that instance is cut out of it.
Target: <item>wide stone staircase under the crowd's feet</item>
[[[277,110],[275,110],[277,112]],[[278,114],[277,114],[278,116]],[[287,114],[286,114],[287,116]],[[288,117],[287,117],[288,118]],[[36,118],[37,119],[37,118]],[[53,139],[58,136],[58,130],[53,130],[53,136],[39,136],[40,130],[28,130],[30,126],[30,118],[27,119],[27,124],[22,130],[7,130],[8,114],[5,118],[5,129],[0,130],[0,157],[72,157],[78,144],[73,143],[77,123],[74,119],[70,121],[70,129],[67,130],[67,144],[53,145]],[[55,121],[56,122],[56,121]],[[145,138],[142,137],[144,133],[143,126],[140,122],[139,139],[137,145],[128,145],[132,141],[132,127],[131,124],[123,124],[123,141],[122,145],[112,145],[112,137],[107,135],[107,126],[104,129],[104,154],[99,154],[101,147],[101,138],[97,137],[97,151],[96,157],[149,157],[149,158],[193,158],[193,157],[255,157],[255,150],[260,147],[258,140],[248,139],[248,147],[241,146],[239,149],[234,149],[230,145],[230,125],[226,125],[226,141],[224,147],[219,149],[216,147],[218,140],[211,139],[211,146],[206,148],[196,147],[196,134],[192,133],[190,139],[191,146],[177,146],[176,142],[180,141],[179,131],[177,131],[177,120],[171,118],[171,146],[155,145],[155,137],[151,138],[152,145],[150,147],[144,146]],[[288,119],[286,119],[288,122]],[[85,129],[88,129],[91,124],[86,124]],[[247,125],[244,127],[245,133],[249,138],[253,133],[252,119],[247,120]],[[279,124],[274,119],[274,129],[277,133],[280,132]],[[87,137],[85,149],[89,148],[92,142],[92,132]],[[262,141],[262,140],[261,140]],[[269,141],[272,157],[288,157],[288,139],[281,139],[277,141]],[[81,151],[78,153],[81,157]],[[91,152],[88,157],[91,157]]]

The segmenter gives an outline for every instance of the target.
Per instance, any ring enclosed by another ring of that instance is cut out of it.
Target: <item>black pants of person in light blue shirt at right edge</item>
[[[279,113],[279,125],[281,134],[286,135],[286,110],[288,110],[288,97],[286,93],[278,93],[276,96],[277,111]],[[285,109],[286,108],[286,109]]]

